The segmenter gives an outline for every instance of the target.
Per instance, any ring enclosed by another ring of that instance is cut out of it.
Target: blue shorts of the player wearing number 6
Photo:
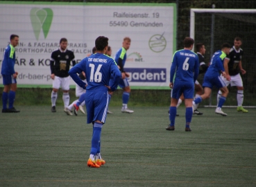
[[[177,100],[183,94],[185,99],[194,98],[194,82],[175,82],[171,89],[171,98]]]

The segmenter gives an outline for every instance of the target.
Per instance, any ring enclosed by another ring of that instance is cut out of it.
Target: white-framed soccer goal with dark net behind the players
[[[228,42],[233,46],[234,37],[241,37],[244,56],[241,75],[244,82],[244,107],[256,107],[256,9],[196,9],[190,10],[190,37],[195,43],[205,44],[205,62],[210,62],[212,54],[221,49],[221,44]],[[198,78],[203,83],[203,75]],[[237,87],[228,86],[230,91],[225,107],[237,107]],[[216,106],[217,89],[203,105]],[[202,106],[203,106],[202,105]]]

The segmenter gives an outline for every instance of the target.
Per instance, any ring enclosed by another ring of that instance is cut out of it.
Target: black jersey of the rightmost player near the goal
[[[244,55],[244,51],[239,48],[237,51],[234,46],[230,48],[230,54],[226,57],[230,62],[228,62],[228,72],[230,75],[237,75],[239,70],[239,62]]]

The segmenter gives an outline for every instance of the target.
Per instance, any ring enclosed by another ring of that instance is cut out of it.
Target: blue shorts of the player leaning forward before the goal
[[[208,87],[212,89],[212,87],[217,87],[218,89],[225,87],[225,82],[218,75],[206,75],[203,78],[203,87]]]

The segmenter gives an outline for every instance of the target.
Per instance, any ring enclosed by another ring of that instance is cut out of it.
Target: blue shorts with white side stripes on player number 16
[[[108,111],[108,90],[87,90],[85,92],[87,123],[101,121],[105,123]]]

